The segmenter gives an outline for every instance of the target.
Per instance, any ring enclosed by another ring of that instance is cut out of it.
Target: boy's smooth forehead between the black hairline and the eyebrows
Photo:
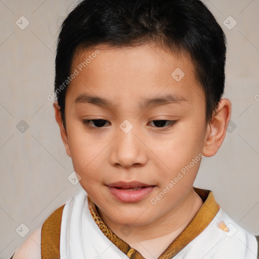
[[[66,98],[103,97],[114,104],[136,104],[140,99],[174,95],[189,102],[204,100],[192,62],[155,45],[79,48],[71,72],[78,74],[70,82]],[[142,102],[143,104],[143,102]]]

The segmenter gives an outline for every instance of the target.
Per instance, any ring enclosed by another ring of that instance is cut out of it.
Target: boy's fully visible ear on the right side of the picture
[[[219,102],[218,109],[214,113],[212,120],[207,125],[202,151],[204,156],[213,156],[217,153],[226,136],[230,117],[231,102],[228,99],[222,99]]]

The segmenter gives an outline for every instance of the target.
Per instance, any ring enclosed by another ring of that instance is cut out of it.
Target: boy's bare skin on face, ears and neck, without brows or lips
[[[205,97],[192,63],[184,55],[176,56],[155,45],[78,49],[71,71],[96,49],[100,54],[67,89],[66,130],[58,104],[54,104],[62,141],[80,176],[80,185],[98,206],[107,226],[146,258],[158,257],[202,206],[193,190],[201,160],[156,204],[151,199],[199,154],[217,153],[226,135],[231,103],[222,99],[206,124]],[[171,76],[177,68],[185,73],[180,81]],[[146,98],[166,94],[185,101],[138,107]],[[106,98],[112,106],[75,102],[81,95]],[[106,123],[97,127],[93,121],[84,124],[83,119],[104,119]],[[130,132],[121,130],[124,120],[133,126]],[[177,122],[160,127],[155,120]],[[121,202],[106,186],[118,181],[138,181],[155,187],[141,201]],[[131,234],[123,235],[122,226],[127,226]]]

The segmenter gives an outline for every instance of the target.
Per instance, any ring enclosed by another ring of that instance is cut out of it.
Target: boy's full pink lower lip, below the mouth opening
[[[126,189],[118,189],[115,187],[109,187],[109,189],[111,194],[121,202],[138,202],[150,194],[153,191],[154,186],[147,186],[136,191],[128,191]]]

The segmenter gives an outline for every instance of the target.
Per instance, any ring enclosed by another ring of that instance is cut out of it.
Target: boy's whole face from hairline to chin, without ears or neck
[[[98,50],[78,51],[72,63],[79,74],[66,93],[66,151],[102,215],[120,225],[146,225],[192,188],[207,132],[205,97],[187,58],[150,45]],[[175,101],[145,102],[167,95]],[[88,103],[87,96],[111,105]],[[93,119],[105,121],[83,122]],[[118,189],[111,186],[116,182],[148,187]]]

